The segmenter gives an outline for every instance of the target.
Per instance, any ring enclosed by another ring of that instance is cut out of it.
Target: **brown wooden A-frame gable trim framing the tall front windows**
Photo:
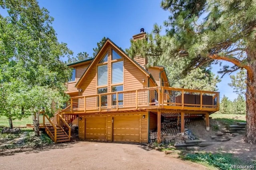
[[[122,54],[122,56],[126,59],[128,59],[129,61],[131,61],[136,67],[138,67],[138,69],[140,69],[147,77],[150,77],[150,73],[148,71],[146,71],[142,66],[140,66],[138,63],[136,63],[136,61],[134,61],[133,59],[131,59],[130,57],[128,57],[126,55],[126,53],[124,53],[124,51],[122,51],[122,49],[120,49],[120,47],[118,47],[115,43],[113,43],[109,38],[107,38],[106,42],[102,45],[102,47],[100,48],[100,51],[97,53],[97,55],[94,57],[94,59],[92,60],[92,62],[90,63],[90,65],[87,67],[86,71],[84,71],[84,74],[82,75],[82,77],[80,78],[80,80],[76,83],[76,87],[80,88],[82,85],[82,82],[84,81],[84,79],[86,78],[86,76],[90,73],[90,69],[92,69],[92,67],[94,65],[96,65],[98,62],[100,62],[99,60],[101,59],[100,57],[102,57],[102,55],[104,55],[104,53],[106,52],[107,48],[109,45],[112,45],[113,47],[116,48],[116,50],[118,50],[119,53]],[[104,55],[105,56],[105,55]]]

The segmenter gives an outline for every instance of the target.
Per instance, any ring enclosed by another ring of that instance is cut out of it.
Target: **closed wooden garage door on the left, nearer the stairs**
[[[106,117],[86,117],[85,127],[86,140],[106,140]]]

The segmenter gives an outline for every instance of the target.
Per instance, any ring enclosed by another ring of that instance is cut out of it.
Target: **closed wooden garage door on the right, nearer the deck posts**
[[[114,117],[113,140],[116,142],[140,142],[140,117]]]

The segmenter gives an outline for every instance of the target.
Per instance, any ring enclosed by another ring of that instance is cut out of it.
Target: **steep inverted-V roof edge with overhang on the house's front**
[[[101,53],[104,51],[103,49],[105,49],[105,47],[107,45],[113,45],[114,47],[116,47],[116,49],[118,49],[118,51],[125,56],[128,60],[130,60],[132,63],[134,63],[134,65],[136,65],[143,73],[146,74],[147,77],[152,77],[152,75],[146,70],[144,69],[141,65],[139,65],[136,61],[134,61],[134,59],[131,59],[130,57],[128,57],[128,55],[120,48],[118,47],[114,42],[112,42],[109,38],[106,39],[106,42],[102,45],[102,47],[100,48],[100,50],[98,51],[97,55],[92,59],[90,65],[87,67],[86,71],[84,71],[84,74],[82,75],[82,77],[79,79],[79,81],[76,83],[75,87],[80,87],[80,85],[82,84],[83,80],[85,79],[86,75],[89,73],[89,70],[91,69],[92,65],[96,64],[97,59],[100,57]],[[152,80],[154,81],[154,78],[152,77]],[[156,81],[154,81],[156,82]]]

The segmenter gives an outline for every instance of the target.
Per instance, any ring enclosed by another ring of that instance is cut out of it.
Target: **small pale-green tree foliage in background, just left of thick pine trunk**
[[[230,75],[231,83],[228,83],[230,87],[233,87],[235,93],[244,95],[246,93],[246,70],[240,70],[236,76]]]

